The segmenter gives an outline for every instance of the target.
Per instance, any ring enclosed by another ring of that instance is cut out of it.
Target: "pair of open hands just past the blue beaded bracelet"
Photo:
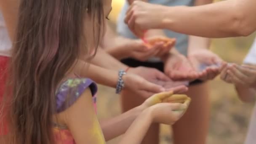
[[[170,78],[153,68],[131,68],[123,79],[125,81],[125,88],[122,93],[132,93],[145,98],[163,91],[173,91],[174,93],[183,93],[187,91],[185,85],[182,85],[181,83],[180,85],[173,85],[173,83],[170,83]],[[159,85],[160,83],[161,85]]]

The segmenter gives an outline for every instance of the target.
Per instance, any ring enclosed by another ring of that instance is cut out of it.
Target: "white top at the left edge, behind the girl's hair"
[[[5,21],[0,13],[0,56],[10,56],[11,40],[5,27]]]

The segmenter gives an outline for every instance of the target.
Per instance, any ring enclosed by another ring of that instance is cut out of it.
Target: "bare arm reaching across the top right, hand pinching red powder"
[[[136,35],[145,29],[161,28],[201,37],[247,36],[256,30],[255,5],[255,0],[224,0],[195,7],[135,1],[126,23]]]

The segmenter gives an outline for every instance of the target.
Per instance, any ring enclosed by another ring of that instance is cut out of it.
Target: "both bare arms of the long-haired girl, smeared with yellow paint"
[[[163,101],[166,103],[162,103]],[[175,96],[173,92],[158,93],[141,106],[100,125],[93,109],[91,92],[86,90],[58,119],[68,126],[77,144],[105,144],[105,139],[108,141],[120,136],[127,129],[120,144],[140,144],[152,122],[170,125],[175,123],[184,114],[189,102],[190,99],[185,95]],[[130,127],[131,123],[133,124]]]

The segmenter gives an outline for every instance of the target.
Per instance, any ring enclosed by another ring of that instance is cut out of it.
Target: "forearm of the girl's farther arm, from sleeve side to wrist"
[[[140,106],[135,107],[117,117],[101,121],[101,129],[106,141],[125,133],[136,117],[141,114],[142,110],[143,108]]]

